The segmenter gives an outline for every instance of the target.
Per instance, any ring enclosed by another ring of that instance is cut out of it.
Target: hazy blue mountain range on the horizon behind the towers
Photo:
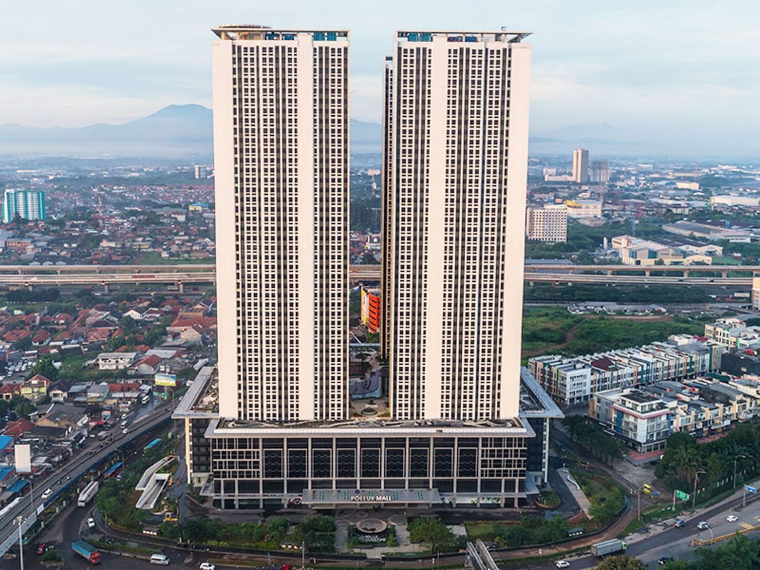
[[[382,126],[351,119],[351,153],[377,154],[381,150]],[[596,153],[625,154],[638,143],[625,141],[607,123],[569,125],[534,133],[531,154],[568,154],[584,144]],[[211,162],[213,115],[201,105],[169,105],[141,119],[121,125],[97,123],[86,127],[25,127],[0,125],[0,154],[61,155],[68,157],[185,157]]]

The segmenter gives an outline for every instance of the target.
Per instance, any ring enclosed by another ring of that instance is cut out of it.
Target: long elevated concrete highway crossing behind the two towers
[[[760,265],[689,265],[641,268],[635,265],[529,264],[528,283],[606,283],[637,285],[707,285],[750,287]],[[0,265],[0,285],[8,287],[166,283],[214,283],[213,264],[176,265]],[[351,265],[351,283],[380,280],[380,265]]]

